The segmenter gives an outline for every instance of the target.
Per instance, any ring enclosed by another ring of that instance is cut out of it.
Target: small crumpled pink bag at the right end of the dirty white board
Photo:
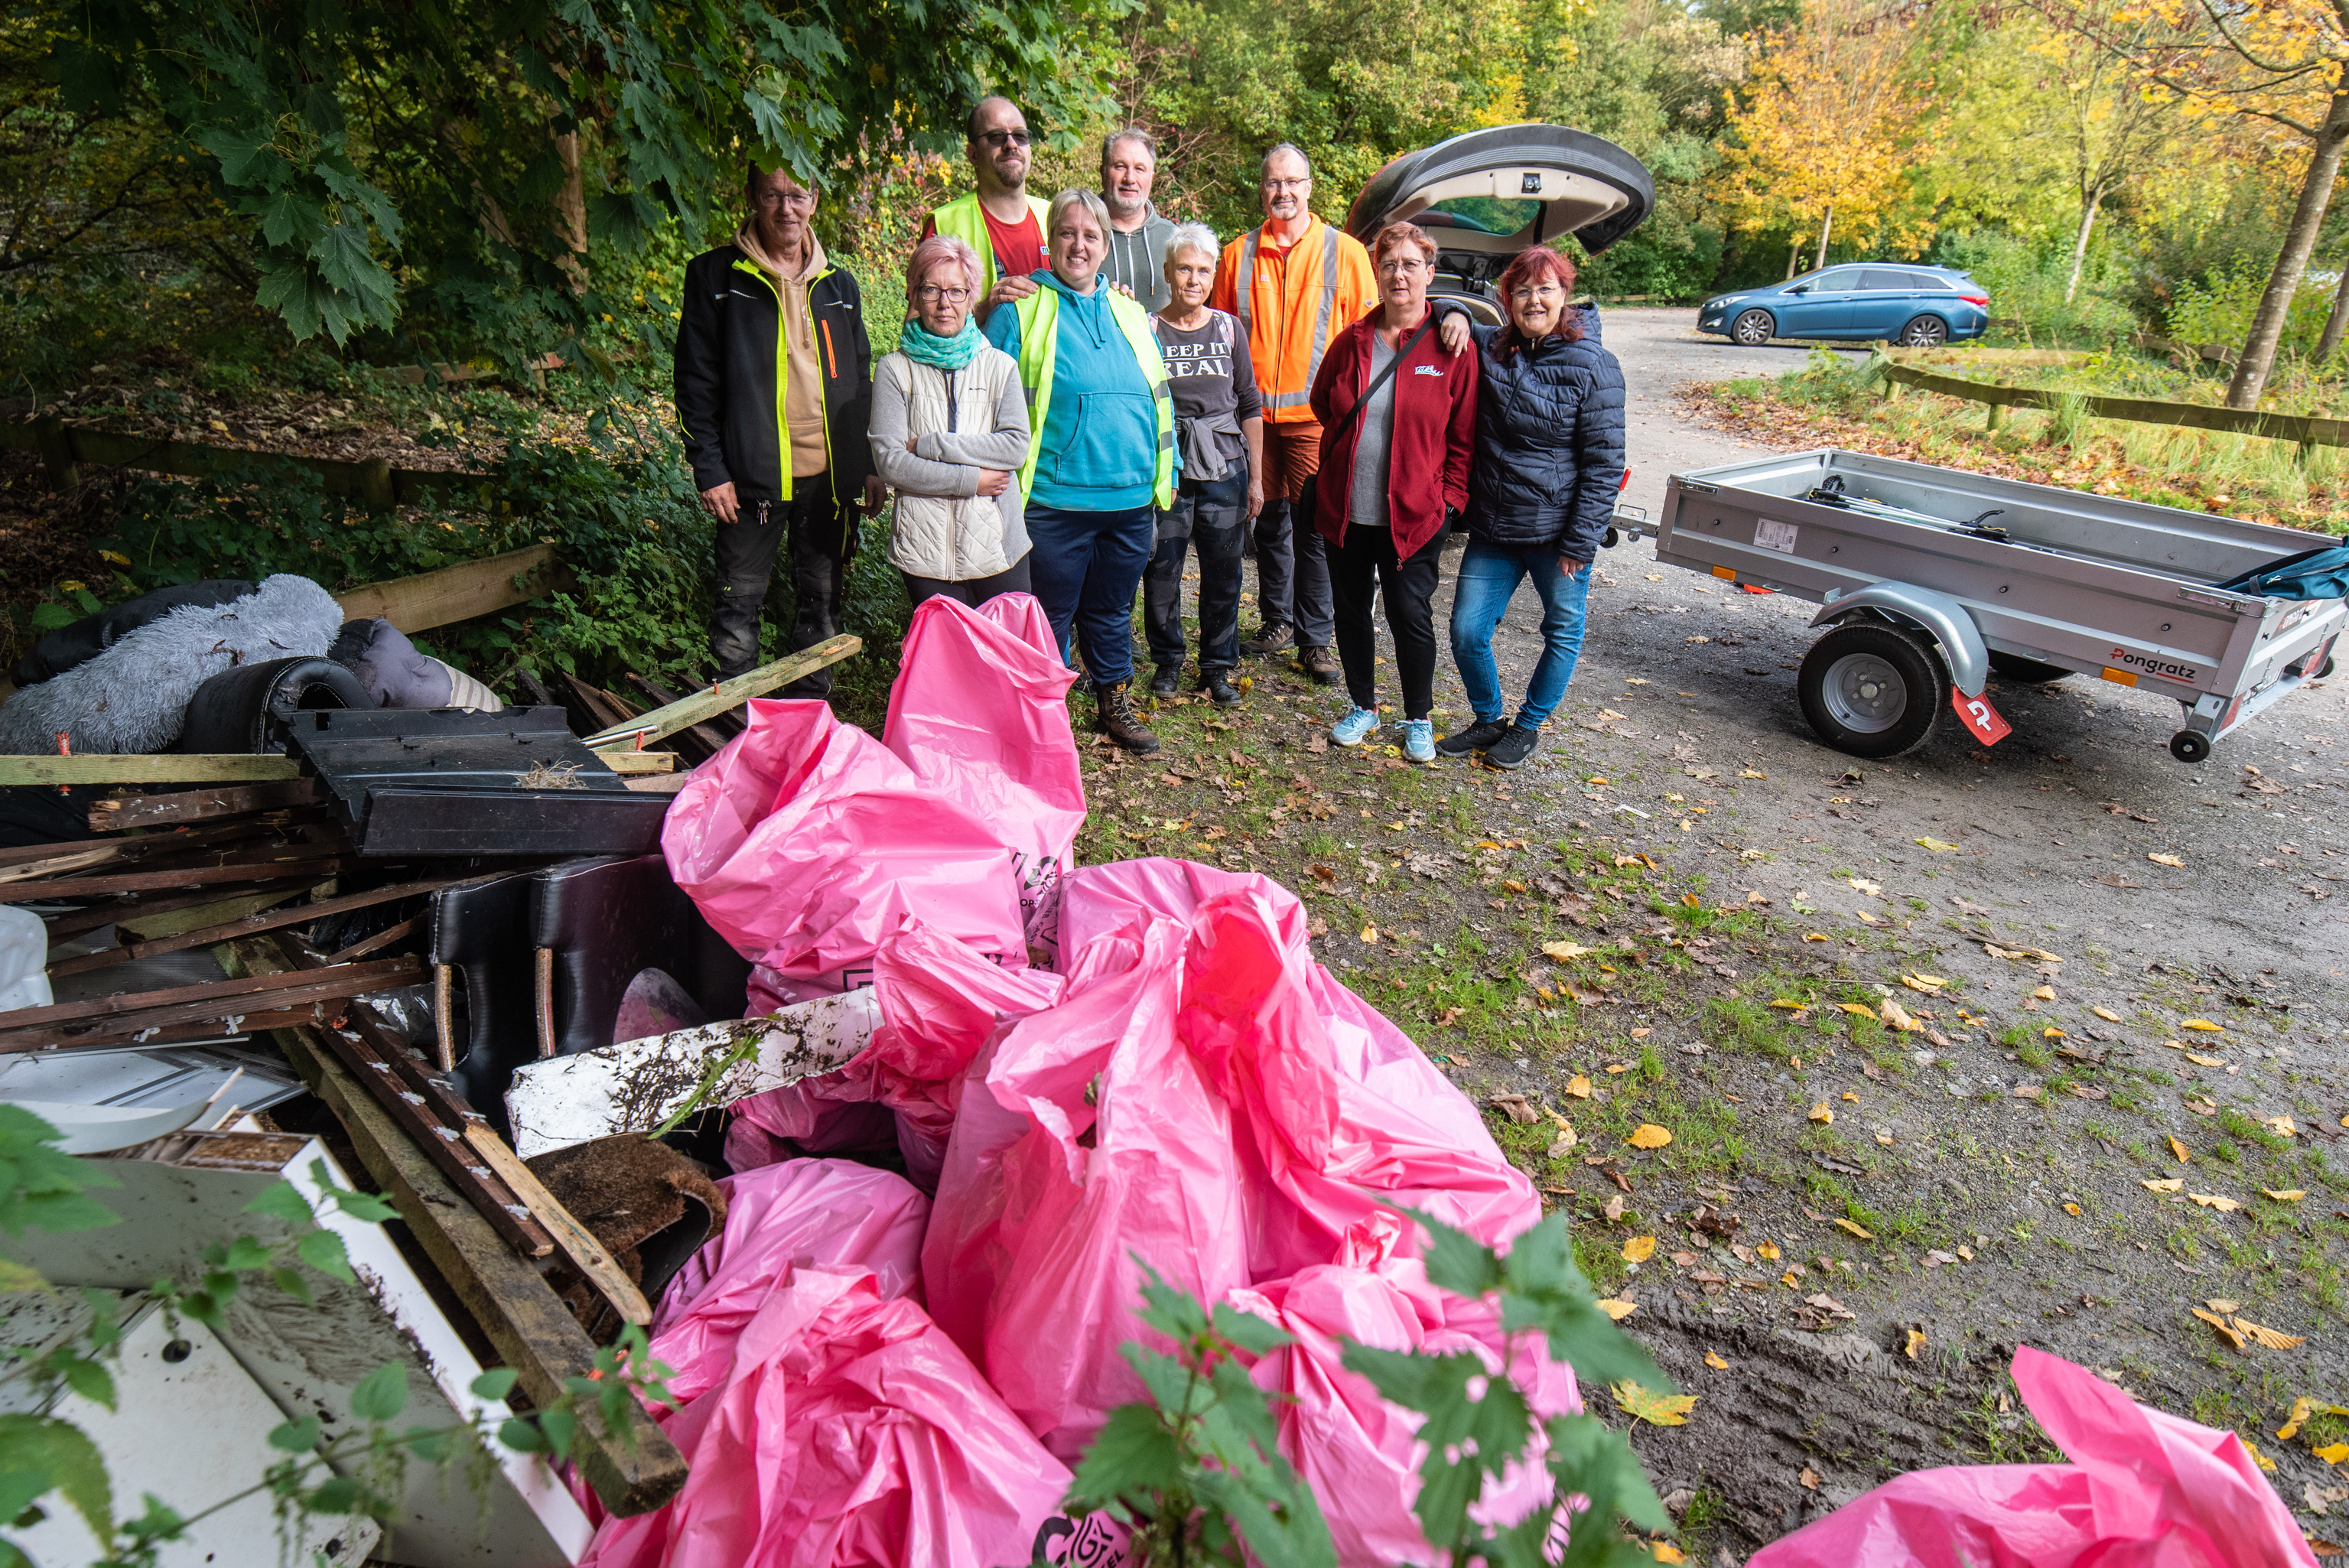
[[[862,1052],[832,1073],[733,1103],[728,1164],[766,1164],[780,1138],[808,1153],[895,1145],[914,1185],[935,1192],[956,1080],[1001,1021],[1050,1007],[1062,981],[1045,969],[1003,969],[914,922],[874,953],[874,991],[881,1026]]]

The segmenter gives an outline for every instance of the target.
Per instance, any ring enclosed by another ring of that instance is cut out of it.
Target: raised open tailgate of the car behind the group
[[[1379,169],[1353,200],[1346,232],[1369,244],[1388,223],[1416,223],[1442,251],[1428,293],[1499,324],[1494,279],[1510,256],[1560,235],[1597,256],[1654,204],[1647,164],[1611,141],[1562,124],[1499,124]]]

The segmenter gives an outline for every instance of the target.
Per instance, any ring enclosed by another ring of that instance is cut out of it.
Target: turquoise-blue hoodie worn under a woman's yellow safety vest
[[[1064,512],[1128,512],[1151,505],[1158,477],[1158,404],[1132,343],[1109,315],[1109,286],[1076,293],[1050,268],[1029,272],[1059,293],[1052,406],[1036,432],[1029,502]],[[1019,312],[996,305],[987,340],[1019,359]]]

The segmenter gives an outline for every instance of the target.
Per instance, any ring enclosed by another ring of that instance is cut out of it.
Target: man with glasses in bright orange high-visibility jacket
[[[1264,394],[1264,512],[1257,514],[1257,613],[1240,650],[1273,657],[1292,641],[1306,674],[1337,683],[1330,559],[1297,498],[1320,469],[1322,427],[1308,404],[1330,338],[1379,300],[1369,251],[1313,216],[1313,167],[1290,143],[1264,155],[1264,225],[1224,246],[1210,305],[1240,317]]]

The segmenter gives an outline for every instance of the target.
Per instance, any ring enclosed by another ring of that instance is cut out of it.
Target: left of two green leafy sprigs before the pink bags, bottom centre
[[[1240,1361],[1287,1345],[1290,1336],[1229,1305],[1210,1314],[1149,1263],[1142,1272],[1149,1284],[1139,1317],[1174,1343],[1174,1354],[1125,1345],[1149,1401],[1111,1411],[1078,1460],[1066,1507],[1106,1509],[1135,1526],[1137,1568],[1247,1561],[1334,1568],[1320,1505],[1280,1458],[1271,1406]]]

